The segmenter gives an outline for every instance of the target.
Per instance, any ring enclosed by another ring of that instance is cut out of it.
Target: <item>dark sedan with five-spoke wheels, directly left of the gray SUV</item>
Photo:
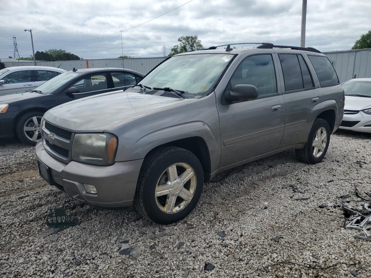
[[[62,73],[34,90],[0,96],[0,138],[16,136],[35,145],[41,138],[41,118],[50,108],[82,97],[125,90],[143,76],[129,69],[79,69]]]

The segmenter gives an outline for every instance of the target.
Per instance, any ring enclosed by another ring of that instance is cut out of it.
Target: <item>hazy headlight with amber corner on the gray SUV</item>
[[[110,133],[78,133],[73,139],[72,160],[111,165],[115,162],[117,141]]]

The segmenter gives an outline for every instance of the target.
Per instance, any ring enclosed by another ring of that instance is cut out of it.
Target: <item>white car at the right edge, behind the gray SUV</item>
[[[371,78],[356,78],[341,84],[345,107],[340,129],[371,133]]]

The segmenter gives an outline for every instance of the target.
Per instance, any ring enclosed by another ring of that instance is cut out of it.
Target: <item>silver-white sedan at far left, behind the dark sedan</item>
[[[0,70],[0,96],[33,90],[65,71],[42,66],[6,67]]]

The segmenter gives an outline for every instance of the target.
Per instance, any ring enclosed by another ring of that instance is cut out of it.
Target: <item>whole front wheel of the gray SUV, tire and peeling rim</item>
[[[193,153],[178,147],[164,147],[144,160],[134,206],[155,223],[177,222],[194,209],[203,183],[203,168]]]

